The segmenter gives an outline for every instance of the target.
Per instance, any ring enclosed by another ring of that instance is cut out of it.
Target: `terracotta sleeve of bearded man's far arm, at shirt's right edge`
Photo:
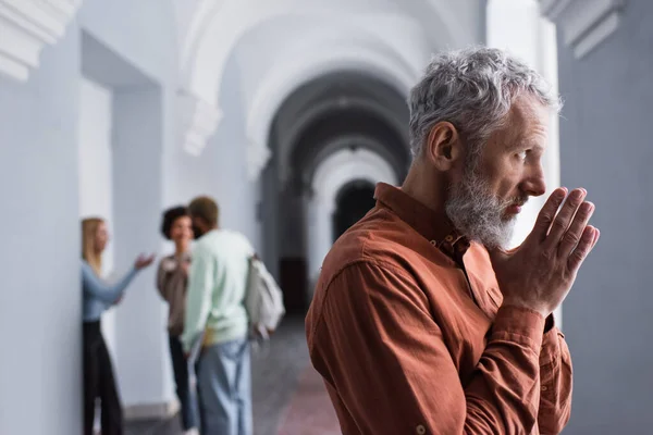
[[[540,409],[542,435],[559,434],[571,414],[572,368],[565,336],[553,327],[542,340],[540,353]]]

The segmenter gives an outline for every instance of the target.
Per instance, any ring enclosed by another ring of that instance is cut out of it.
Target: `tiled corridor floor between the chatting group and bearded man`
[[[310,410],[306,409],[309,403],[320,407],[318,420],[322,426],[335,427],[333,425],[335,417],[331,403],[325,399],[321,381],[309,369],[303,318],[285,319],[269,346],[252,352],[251,365],[255,435],[331,435],[337,433],[313,432],[307,427],[297,428],[306,419],[308,419],[307,423],[317,421],[316,419],[311,420],[310,412],[308,412]],[[301,385],[298,388],[300,378]],[[307,400],[303,400],[303,395],[296,395],[300,391],[309,393],[306,396]],[[293,405],[291,406],[291,403]],[[304,407],[300,406],[301,403]],[[325,415],[322,415],[322,411],[326,411]],[[331,423],[330,419],[332,419]],[[326,422],[324,423],[324,421]],[[283,430],[280,432],[282,424]],[[178,435],[181,433],[177,418],[170,421],[131,422],[126,431],[126,435]]]

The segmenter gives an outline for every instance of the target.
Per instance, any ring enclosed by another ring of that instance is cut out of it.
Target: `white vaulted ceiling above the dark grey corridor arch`
[[[184,0],[185,1],[185,0]],[[176,0],[177,7],[182,0]],[[301,84],[360,71],[404,97],[431,53],[482,40],[482,0],[188,0],[180,14],[185,92],[220,113],[235,55],[251,156],[268,156],[270,125]],[[264,159],[262,159],[264,160]],[[258,175],[259,158],[252,176]]]

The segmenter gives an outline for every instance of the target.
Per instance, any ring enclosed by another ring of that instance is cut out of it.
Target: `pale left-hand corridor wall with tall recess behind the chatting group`
[[[0,191],[5,206],[0,236],[8,247],[0,252],[0,330],[8,332],[4,344],[11,349],[0,358],[2,435],[82,431],[81,215],[108,219],[114,237],[106,260],[111,269],[114,250],[119,273],[139,251],[159,250],[167,199],[213,194],[225,225],[257,244],[258,185],[237,183],[245,181],[246,167],[242,120],[227,120],[212,154],[176,159],[172,12],[169,1],[116,0],[108,5],[85,0],[65,37],[44,49],[28,82],[0,77]],[[124,87],[121,80],[128,77],[107,70],[107,78],[115,80],[104,84],[115,98],[110,103],[107,89],[82,83],[82,28],[150,85]],[[237,71],[232,78],[237,80]],[[237,91],[226,94],[225,104],[238,104]],[[118,129],[110,136],[111,124]],[[233,150],[238,151],[235,158]],[[182,167],[192,159],[190,166]],[[176,190],[169,191],[176,179]],[[167,310],[153,274],[151,268],[136,278],[115,310],[114,334],[106,331],[127,407],[164,405],[174,397]]]

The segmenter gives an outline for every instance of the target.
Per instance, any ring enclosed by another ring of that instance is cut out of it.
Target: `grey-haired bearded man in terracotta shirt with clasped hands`
[[[436,57],[409,103],[409,174],[380,184],[336,241],[307,316],[343,434],[559,433],[571,361],[552,312],[599,239],[587,191],[554,190],[526,241],[503,249],[545,192],[557,98],[476,48]]]

